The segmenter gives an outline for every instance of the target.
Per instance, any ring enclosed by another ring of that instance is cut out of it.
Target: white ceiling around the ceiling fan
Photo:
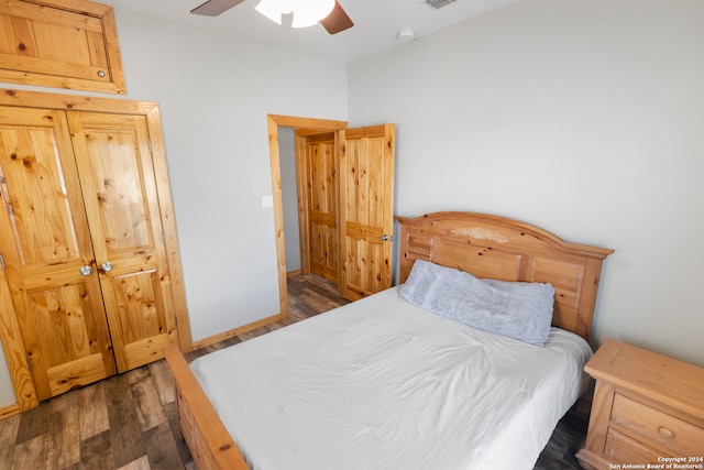
[[[402,30],[413,30],[418,39],[518,0],[457,0],[440,9],[427,6],[425,0],[339,0],[354,26],[334,35],[319,24],[298,30],[279,26],[254,10],[258,0],[246,0],[219,17],[190,14],[204,1],[102,0],[102,3],[116,10],[351,63],[402,44],[398,40]]]

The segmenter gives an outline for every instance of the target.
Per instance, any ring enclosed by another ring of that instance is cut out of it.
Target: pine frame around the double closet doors
[[[162,230],[172,282],[172,295],[174,297],[174,315],[176,316],[178,330],[178,346],[183,352],[193,350],[193,338],[188,308],[186,306],[186,292],[184,275],[178,251],[178,237],[176,233],[176,218],[170,196],[168,167],[166,165],[166,149],[162,132],[162,120],[158,105],[148,101],[133,101],[127,99],[85,97],[77,95],[59,95],[41,91],[25,91],[0,88],[0,106],[14,106],[24,108],[58,109],[63,111],[94,111],[109,112],[113,114],[141,114],[146,117],[152,143],[152,156],[154,173],[156,175],[156,190],[160,196],[162,211]],[[280,193],[279,193],[280,195]],[[0,283],[4,283],[4,273],[0,273]],[[25,361],[22,334],[16,323],[12,303],[7,302],[6,292],[0,286],[0,338],[4,348],[6,360],[12,376],[14,394],[21,411],[30,409],[38,405],[36,389],[32,373]],[[9,293],[9,291],[8,291]]]

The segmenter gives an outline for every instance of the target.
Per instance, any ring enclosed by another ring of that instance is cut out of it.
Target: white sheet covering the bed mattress
[[[531,469],[591,357],[414,307],[392,288],[191,363],[250,466]]]

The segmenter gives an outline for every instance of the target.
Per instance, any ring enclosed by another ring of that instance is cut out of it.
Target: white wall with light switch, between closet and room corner
[[[346,67],[116,18],[128,95],[109,97],[160,103],[194,339],[278,314],[274,214],[262,208],[272,194],[266,116],[344,120]],[[3,381],[0,406],[4,396]]]

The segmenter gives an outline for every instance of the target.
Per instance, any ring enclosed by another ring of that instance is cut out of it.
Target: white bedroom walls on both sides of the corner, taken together
[[[261,206],[278,113],[396,122],[397,214],[501,214],[615,249],[594,343],[704,365],[704,2],[521,0],[349,75],[121,11],[117,22],[127,98],[161,105],[195,339],[278,310]]]

